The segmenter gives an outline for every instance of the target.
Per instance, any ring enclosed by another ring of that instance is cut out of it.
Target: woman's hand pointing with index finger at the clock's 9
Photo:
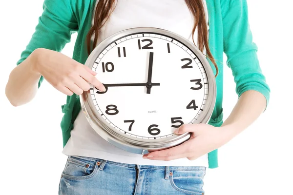
[[[49,49],[39,48],[33,53],[33,69],[63,94],[81,95],[89,90],[89,83],[105,91],[105,86],[95,77],[96,73],[84,64]]]

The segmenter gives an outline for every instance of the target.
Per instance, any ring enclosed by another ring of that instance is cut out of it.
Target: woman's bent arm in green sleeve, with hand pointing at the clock
[[[71,6],[75,3],[74,0],[44,0],[36,30],[6,85],[5,93],[12,105],[31,101],[44,78],[68,96],[87,91],[89,84],[86,81],[105,90],[92,70],[60,53],[71,34],[78,30]]]

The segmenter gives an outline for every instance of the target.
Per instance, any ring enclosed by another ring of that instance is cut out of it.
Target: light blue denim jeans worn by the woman
[[[69,156],[59,195],[204,195],[206,167],[147,166]]]

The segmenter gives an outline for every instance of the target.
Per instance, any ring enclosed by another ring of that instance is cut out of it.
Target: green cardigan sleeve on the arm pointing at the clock
[[[70,42],[71,34],[78,28],[71,4],[71,0],[44,0],[43,12],[35,32],[21,53],[17,65],[37,48],[61,52],[65,44]],[[43,77],[39,80],[39,87],[42,81]]]

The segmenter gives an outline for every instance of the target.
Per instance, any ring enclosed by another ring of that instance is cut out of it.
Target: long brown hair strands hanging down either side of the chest
[[[99,2],[97,3],[95,15],[94,15],[94,24],[90,28],[86,38],[88,54],[91,53],[91,44],[90,44],[91,37],[94,35],[93,45],[96,45],[98,41],[98,37],[99,37],[99,31],[109,19],[112,11],[115,8],[115,2],[116,2],[116,0],[98,0],[98,1]],[[204,3],[202,0],[185,0],[185,2],[188,5],[189,10],[194,17],[194,26],[192,29],[192,35],[194,34],[196,27],[198,27],[197,48],[201,52],[203,52],[204,49],[206,49],[207,57],[210,59],[210,61],[214,64],[216,68],[216,75],[215,75],[216,77],[218,75],[218,66],[209,50],[208,27],[206,25],[206,13],[204,8]],[[193,36],[192,36],[192,40],[194,45],[196,45],[194,42]]]

